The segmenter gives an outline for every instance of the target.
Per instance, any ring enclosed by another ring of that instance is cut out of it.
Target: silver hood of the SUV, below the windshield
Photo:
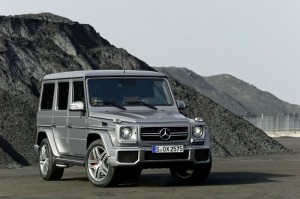
[[[91,117],[122,122],[145,123],[145,122],[189,122],[178,111],[119,111],[119,112],[90,112]]]

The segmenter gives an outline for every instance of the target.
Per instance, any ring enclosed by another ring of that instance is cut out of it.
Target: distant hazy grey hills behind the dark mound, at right
[[[202,77],[187,68],[155,69],[193,88],[237,115],[300,113],[300,106],[284,102],[231,75]]]

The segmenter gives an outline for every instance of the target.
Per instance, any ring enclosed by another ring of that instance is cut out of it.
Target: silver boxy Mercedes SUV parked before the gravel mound
[[[95,186],[170,168],[184,184],[210,173],[209,133],[200,118],[180,114],[167,77],[132,70],[74,71],[43,78],[37,114],[40,175],[59,180],[84,166]]]

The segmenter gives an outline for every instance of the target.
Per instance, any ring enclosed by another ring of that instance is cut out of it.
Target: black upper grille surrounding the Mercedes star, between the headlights
[[[187,140],[188,127],[144,127],[141,128],[141,140],[166,141],[160,137],[160,131],[164,128],[170,130],[170,138],[167,141]]]

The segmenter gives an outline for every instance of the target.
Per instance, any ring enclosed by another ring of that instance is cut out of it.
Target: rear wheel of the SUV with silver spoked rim
[[[46,180],[60,180],[64,174],[64,168],[59,168],[53,161],[53,153],[48,138],[42,140],[39,147],[39,171],[41,177]]]

